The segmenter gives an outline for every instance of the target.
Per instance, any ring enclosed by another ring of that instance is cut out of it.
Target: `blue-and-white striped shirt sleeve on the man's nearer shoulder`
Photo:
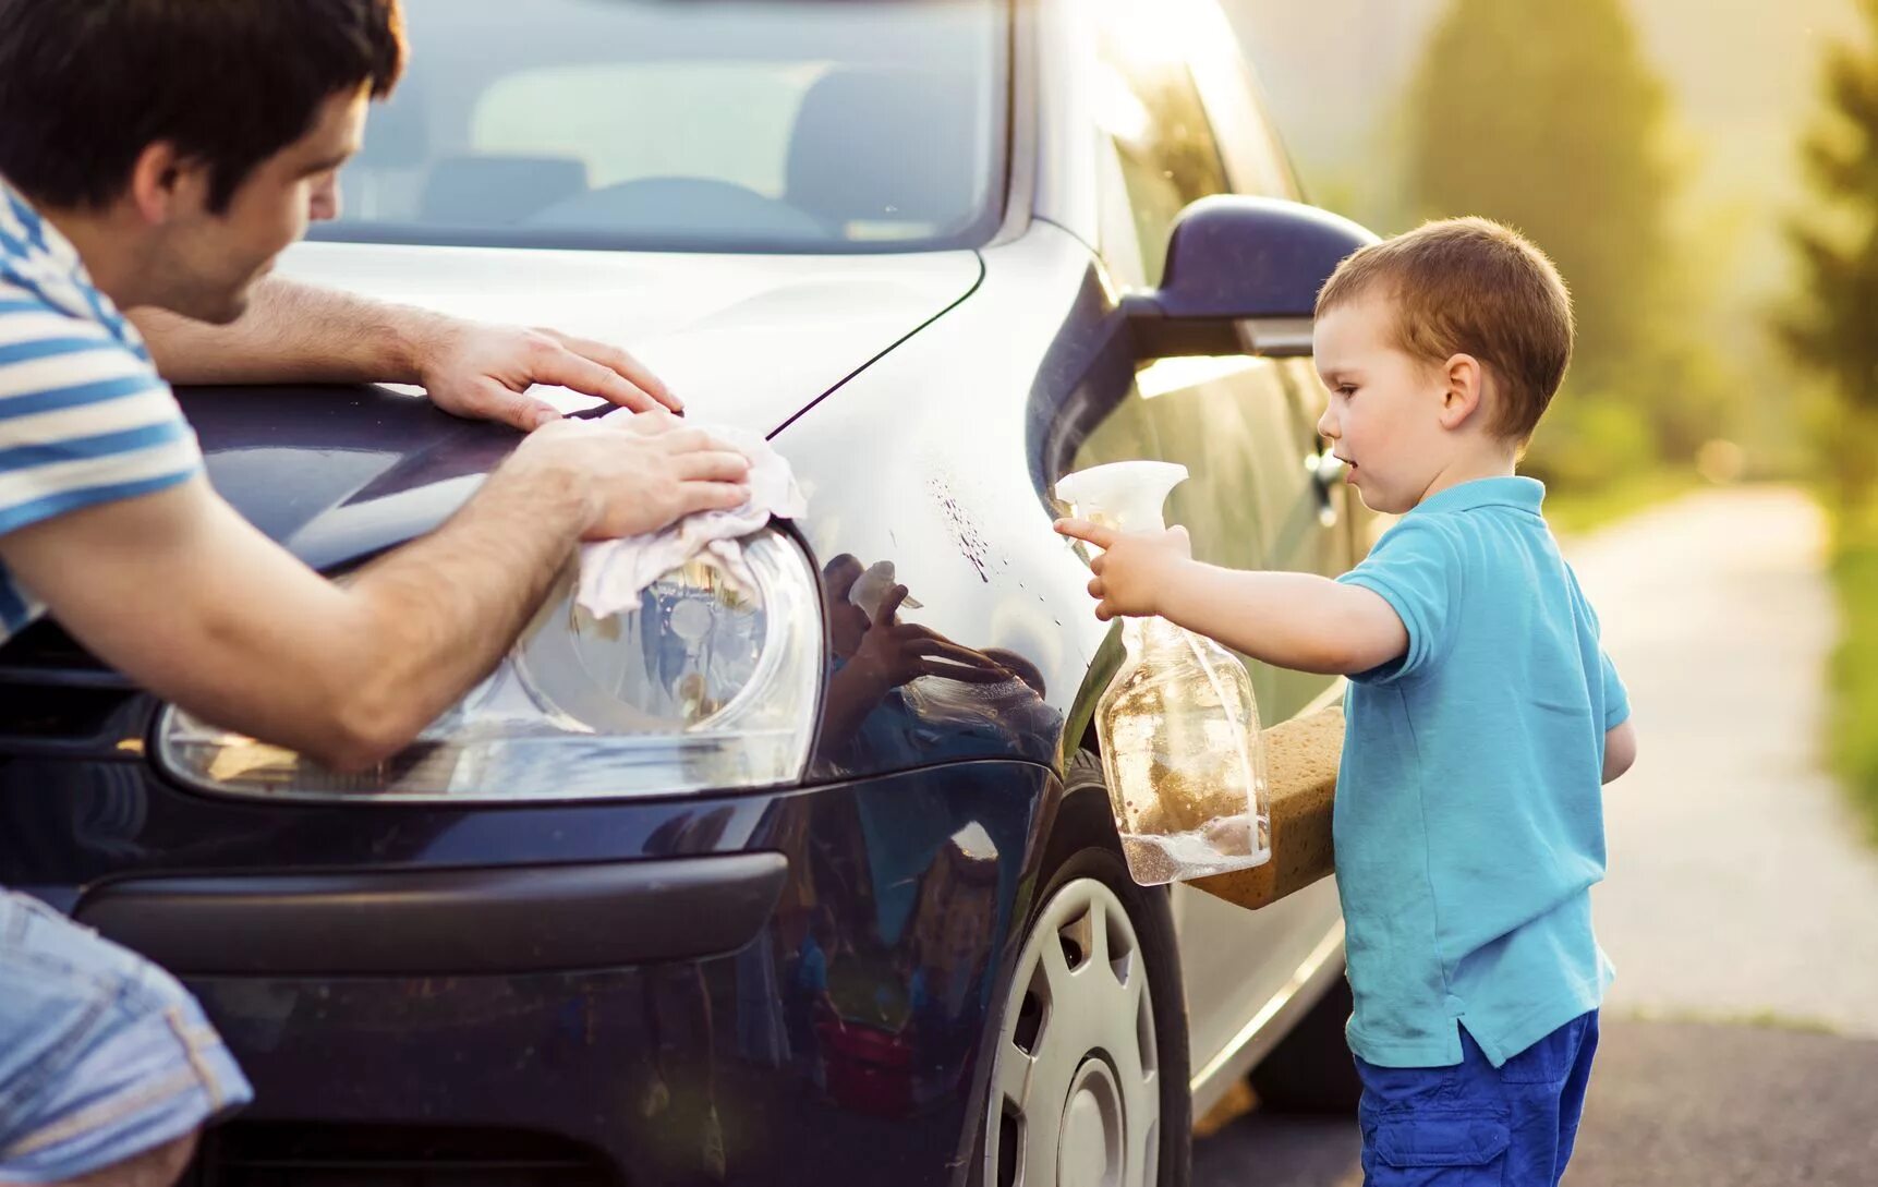
[[[98,323],[0,301],[0,535],[199,470],[195,434],[143,355]]]

